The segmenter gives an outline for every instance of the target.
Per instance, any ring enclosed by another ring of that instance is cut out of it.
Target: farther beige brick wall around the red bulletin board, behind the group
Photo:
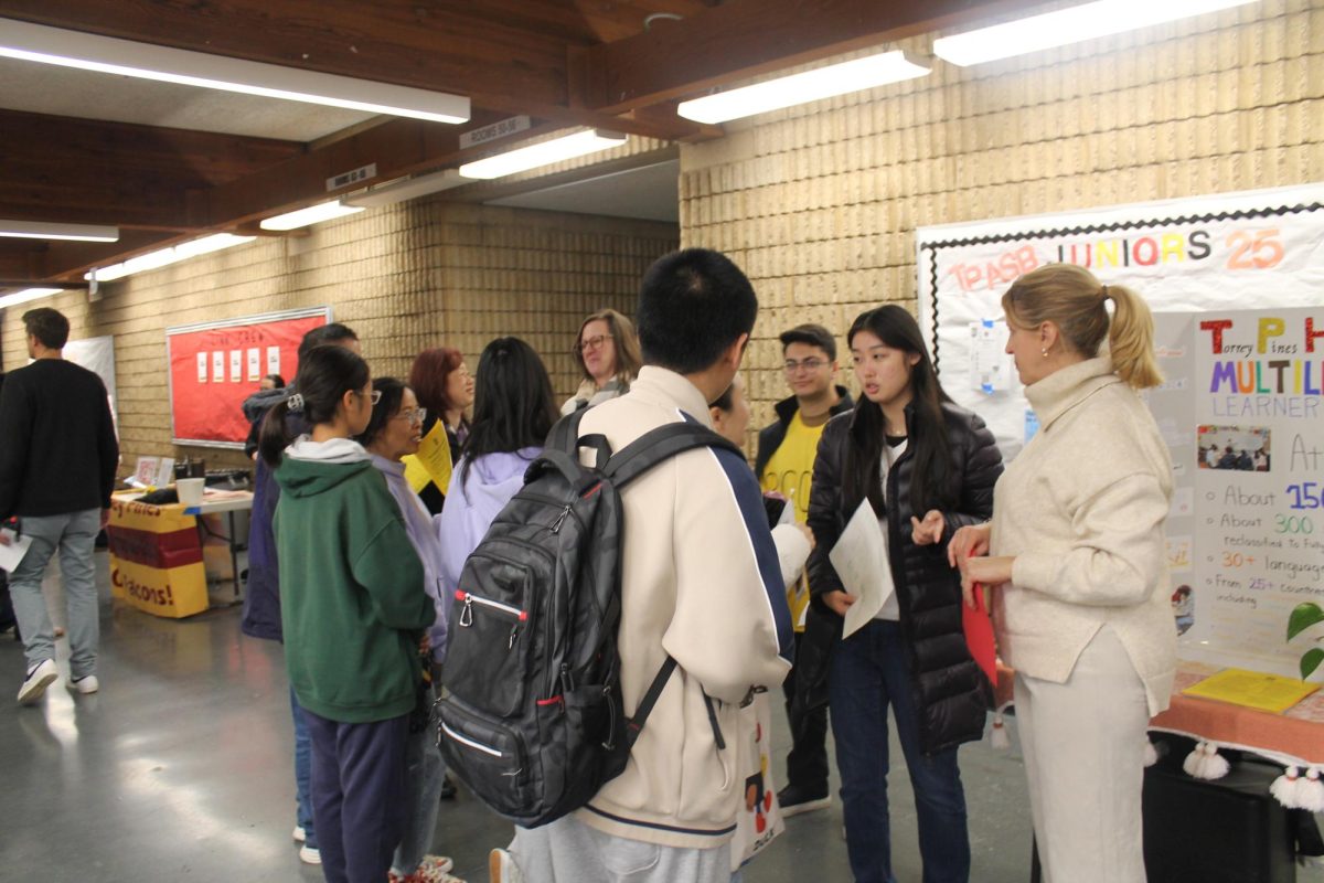
[[[66,291],[30,306],[68,315],[73,339],[115,336],[126,473],[139,455],[244,465],[240,453],[171,445],[167,327],[330,304],[360,335],[373,373],[396,376],[442,344],[475,368],[489,340],[512,334],[568,397],[579,323],[608,306],[633,312],[639,277],[675,237],[669,224],[417,200],[113,282],[97,303]],[[26,308],[4,311],[7,369],[25,361]]]

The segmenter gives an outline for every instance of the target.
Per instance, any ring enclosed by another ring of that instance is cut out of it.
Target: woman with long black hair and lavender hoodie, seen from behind
[[[465,559],[524,485],[524,470],[556,422],[543,360],[519,338],[498,338],[478,359],[474,422],[446,490],[441,530],[442,585],[459,584]]]

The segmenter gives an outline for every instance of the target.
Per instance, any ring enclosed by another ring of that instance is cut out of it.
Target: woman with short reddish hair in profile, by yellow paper
[[[465,412],[474,404],[474,377],[469,373],[465,357],[450,347],[424,349],[409,369],[409,388],[418,397],[418,406],[428,414],[422,425],[422,446],[440,443],[445,434],[450,462],[458,462],[459,449],[469,436]],[[441,512],[446,502],[448,481],[445,474],[434,479],[422,475],[413,483],[433,515]]]

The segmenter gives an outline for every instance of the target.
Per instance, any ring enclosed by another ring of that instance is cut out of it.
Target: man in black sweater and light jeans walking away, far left
[[[28,670],[19,702],[34,703],[58,676],[54,629],[41,594],[60,551],[69,616],[69,688],[97,692],[99,642],[93,551],[110,520],[119,443],[101,377],[65,361],[69,319],[46,307],[23,315],[34,360],[0,392],[0,520],[19,516],[28,553],[9,575]],[[0,539],[8,543],[8,540]]]

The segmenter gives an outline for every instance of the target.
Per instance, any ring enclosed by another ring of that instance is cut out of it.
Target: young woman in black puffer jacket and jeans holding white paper
[[[866,499],[887,535],[896,586],[826,662],[850,866],[858,883],[894,880],[891,706],[915,789],[924,883],[964,883],[970,847],[956,749],[982,733],[988,686],[965,646],[961,581],[947,563],[947,540],[988,520],[1002,458],[984,421],[943,392],[906,310],[888,304],[862,314],[847,342],[862,395],[851,412],[829,421],[814,461],[812,616],[828,617],[839,634],[857,601],[829,555]]]

